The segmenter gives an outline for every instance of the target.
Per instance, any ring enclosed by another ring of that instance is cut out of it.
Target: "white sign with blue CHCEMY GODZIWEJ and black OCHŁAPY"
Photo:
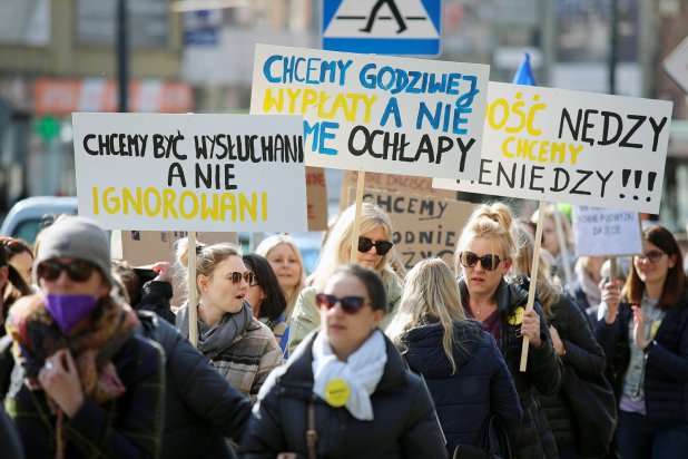
[[[489,66],[257,45],[252,114],[304,116],[306,164],[475,178]]]

